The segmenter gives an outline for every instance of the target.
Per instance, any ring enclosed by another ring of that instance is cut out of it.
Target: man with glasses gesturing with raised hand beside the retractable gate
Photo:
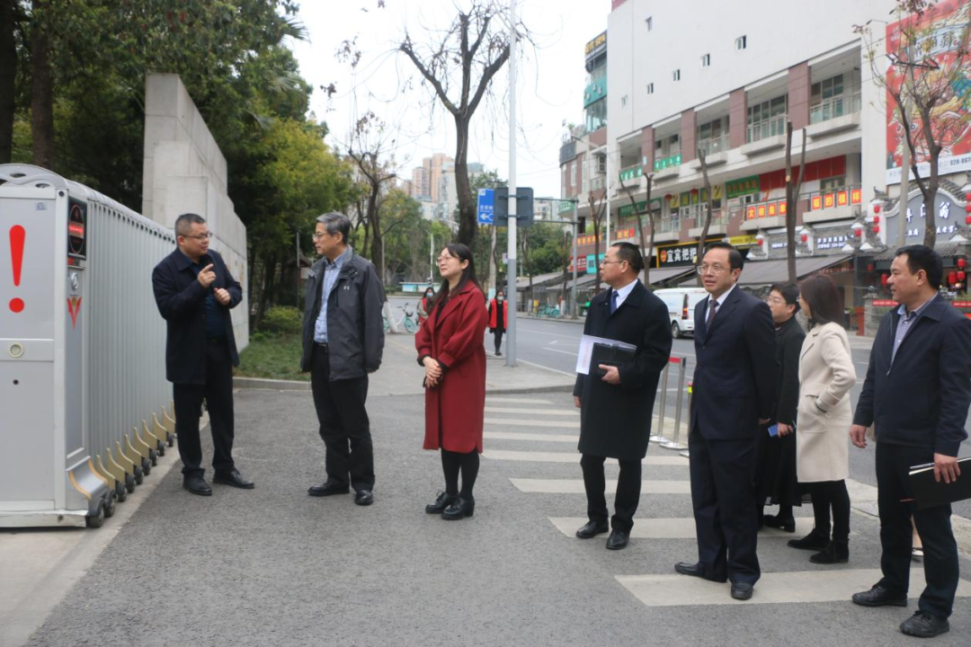
[[[250,490],[251,481],[233,462],[233,367],[239,366],[229,309],[243,291],[222,257],[209,248],[212,233],[195,213],[176,219],[179,248],[151,273],[155,304],[166,321],[165,374],[173,384],[176,437],[183,461],[183,487],[208,497],[199,441],[202,401],[213,433],[213,482]]]

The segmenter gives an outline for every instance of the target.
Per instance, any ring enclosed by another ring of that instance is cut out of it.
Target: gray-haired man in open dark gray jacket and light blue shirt
[[[317,219],[314,245],[321,258],[307,279],[303,358],[311,373],[327,479],[312,497],[347,494],[374,502],[374,449],[365,402],[368,373],[381,366],[385,348],[381,279],[348,245],[351,220],[343,213]]]

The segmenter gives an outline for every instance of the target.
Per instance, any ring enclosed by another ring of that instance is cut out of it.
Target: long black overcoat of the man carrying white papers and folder
[[[637,281],[613,314],[611,290],[590,302],[584,334],[637,346],[634,358],[619,367],[620,383],[578,374],[573,395],[580,398],[580,445],[584,454],[627,461],[648,453],[657,380],[671,355],[668,309]]]

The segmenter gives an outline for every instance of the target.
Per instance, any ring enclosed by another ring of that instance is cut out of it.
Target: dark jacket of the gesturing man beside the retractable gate
[[[212,263],[216,280],[204,288],[194,272],[192,261],[180,249],[161,260],[151,273],[155,305],[165,319],[165,378],[173,384],[206,383],[206,296],[216,288],[229,293],[229,304],[219,306],[225,326],[226,345],[233,366],[239,366],[236,337],[230,308],[243,301],[243,289],[226,267],[217,251],[210,249],[200,261]]]

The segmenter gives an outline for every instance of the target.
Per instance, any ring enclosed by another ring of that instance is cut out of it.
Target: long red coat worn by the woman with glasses
[[[425,449],[483,450],[485,317],[485,295],[466,283],[419,327],[419,364],[431,357],[445,367],[438,385],[425,389]]]

